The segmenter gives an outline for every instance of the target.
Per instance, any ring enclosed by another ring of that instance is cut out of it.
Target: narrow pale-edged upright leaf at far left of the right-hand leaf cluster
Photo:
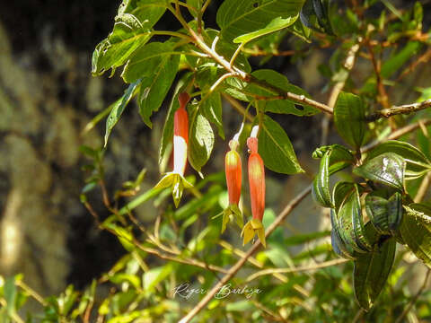
[[[334,207],[330,199],[330,153],[327,152],[321,158],[319,172],[312,181],[312,197],[323,207]]]

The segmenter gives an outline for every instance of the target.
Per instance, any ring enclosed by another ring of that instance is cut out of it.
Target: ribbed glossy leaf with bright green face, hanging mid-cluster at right
[[[353,186],[353,191],[340,206],[337,216],[341,239],[357,252],[371,250],[371,244],[365,235],[362,207],[356,184]]]

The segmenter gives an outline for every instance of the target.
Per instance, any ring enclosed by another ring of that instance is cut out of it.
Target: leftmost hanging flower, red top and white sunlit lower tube
[[[180,108],[173,116],[173,170],[163,176],[155,188],[172,188],[172,197],[175,206],[178,207],[184,188],[193,185],[184,178],[184,170],[187,165],[187,146],[189,144],[189,116],[186,106],[189,102],[189,94],[182,92],[178,96]]]

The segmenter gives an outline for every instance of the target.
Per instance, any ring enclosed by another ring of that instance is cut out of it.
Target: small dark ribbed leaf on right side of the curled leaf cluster
[[[372,192],[365,196],[365,210],[375,230],[389,234],[388,200],[378,192]]]

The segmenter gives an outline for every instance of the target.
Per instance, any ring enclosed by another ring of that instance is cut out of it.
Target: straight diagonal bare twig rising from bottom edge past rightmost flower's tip
[[[311,187],[305,188],[299,195],[295,196],[295,198],[288,205],[286,205],[285,209],[280,214],[278,214],[276,220],[268,227],[268,230],[265,232],[266,237],[268,237],[274,230],[276,230],[277,226],[285,220],[286,216],[292,212],[295,206],[298,205],[303,200],[303,198],[305,198],[305,196],[308,196],[310,194],[311,190]],[[207,306],[207,303],[211,301],[211,299],[214,297],[216,292],[218,292],[224,284],[229,282],[229,280],[234,275],[236,275],[236,273],[238,273],[238,271],[245,264],[247,259],[251,257],[251,255],[259,249],[259,247],[260,242],[256,241],[251,247],[251,249],[247,251],[244,257],[238,260],[238,262],[229,269],[226,275],[224,275],[224,277],[211,289],[211,291],[207,292],[205,297],[201,301],[199,301],[198,304],[192,310],[190,310],[186,316],[184,316],[184,318],[180,319],[180,323],[189,322],[190,319],[193,319],[200,310],[204,309]]]

